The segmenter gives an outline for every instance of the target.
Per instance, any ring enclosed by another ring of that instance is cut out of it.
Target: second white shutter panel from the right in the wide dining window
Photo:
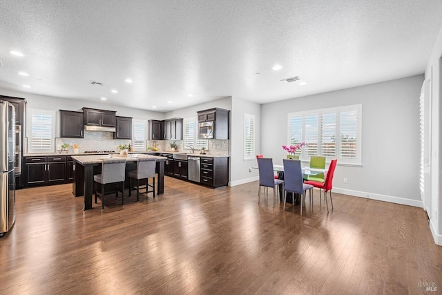
[[[336,113],[323,113],[320,116],[320,154],[336,156]]]

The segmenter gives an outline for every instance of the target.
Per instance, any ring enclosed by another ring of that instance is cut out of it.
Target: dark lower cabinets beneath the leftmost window
[[[72,181],[72,158],[66,157],[65,155],[25,157],[24,162],[26,171],[26,187],[62,184]]]

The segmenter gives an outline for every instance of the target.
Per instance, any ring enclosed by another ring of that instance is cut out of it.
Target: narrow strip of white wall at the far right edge
[[[442,28],[434,44],[432,54],[428,60],[427,68],[425,70],[425,79],[430,80],[430,91],[432,99],[432,158],[431,158],[431,212],[427,212],[430,218],[430,229],[434,241],[438,245],[442,245],[442,181],[441,181],[441,167],[442,158],[440,153],[441,147],[441,124],[442,124]]]

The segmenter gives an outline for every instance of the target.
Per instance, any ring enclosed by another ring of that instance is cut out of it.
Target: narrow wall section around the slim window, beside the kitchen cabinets
[[[249,102],[238,97],[232,99],[231,112],[231,186],[258,180],[258,171],[251,166],[257,166],[256,159],[244,160],[244,114],[255,115],[256,119],[256,154],[260,153],[261,142],[261,110],[260,104]]]

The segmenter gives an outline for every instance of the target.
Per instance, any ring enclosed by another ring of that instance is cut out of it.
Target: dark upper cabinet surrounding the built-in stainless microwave
[[[229,110],[224,110],[224,108],[210,108],[209,110],[199,111],[198,113],[198,124],[207,126],[210,124],[213,133],[214,140],[228,140],[229,139]],[[206,122],[213,122],[206,123]],[[201,134],[201,129],[200,129]],[[201,137],[206,139],[208,137]]]

